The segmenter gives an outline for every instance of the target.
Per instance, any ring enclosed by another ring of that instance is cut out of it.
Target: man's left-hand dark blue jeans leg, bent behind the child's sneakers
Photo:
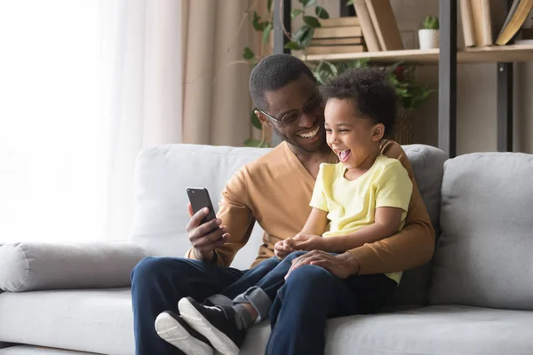
[[[154,322],[159,313],[179,313],[178,301],[186,296],[203,302],[209,296],[227,291],[224,295],[234,297],[237,289],[255,285],[277,264],[279,260],[271,258],[250,271],[242,271],[178,257],[144,258],[131,272],[135,353],[182,354],[155,332]],[[228,288],[232,285],[233,291]]]

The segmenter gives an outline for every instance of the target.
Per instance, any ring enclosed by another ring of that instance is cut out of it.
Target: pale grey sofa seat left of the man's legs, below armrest
[[[132,354],[130,288],[0,294],[0,341]]]

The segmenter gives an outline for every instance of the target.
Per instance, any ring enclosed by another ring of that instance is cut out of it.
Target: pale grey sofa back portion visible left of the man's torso
[[[218,211],[222,189],[231,175],[269,150],[187,144],[147,148],[137,160],[131,241],[153,256],[185,256],[191,246],[185,230],[189,221],[187,187],[207,188]],[[232,266],[250,267],[262,244],[262,234],[256,224]]]

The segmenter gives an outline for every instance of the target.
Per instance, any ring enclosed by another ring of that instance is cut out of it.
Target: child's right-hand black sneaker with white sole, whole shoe
[[[235,324],[235,310],[227,306],[206,306],[193,298],[179,300],[179,313],[187,323],[211,342],[223,355],[237,355],[243,345],[244,329]]]

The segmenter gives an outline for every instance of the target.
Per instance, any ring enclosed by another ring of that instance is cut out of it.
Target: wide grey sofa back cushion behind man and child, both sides
[[[418,188],[435,229],[439,225],[442,165],[446,154],[432,146],[403,146],[413,166]],[[269,148],[169,145],[139,154],[136,170],[136,210],[131,240],[153,256],[184,256],[187,239],[187,187],[205,187],[218,210],[222,188],[231,175]],[[257,256],[262,229],[256,225],[248,244],[232,266],[246,269]],[[423,304],[427,299],[429,265],[404,272],[394,304]]]

